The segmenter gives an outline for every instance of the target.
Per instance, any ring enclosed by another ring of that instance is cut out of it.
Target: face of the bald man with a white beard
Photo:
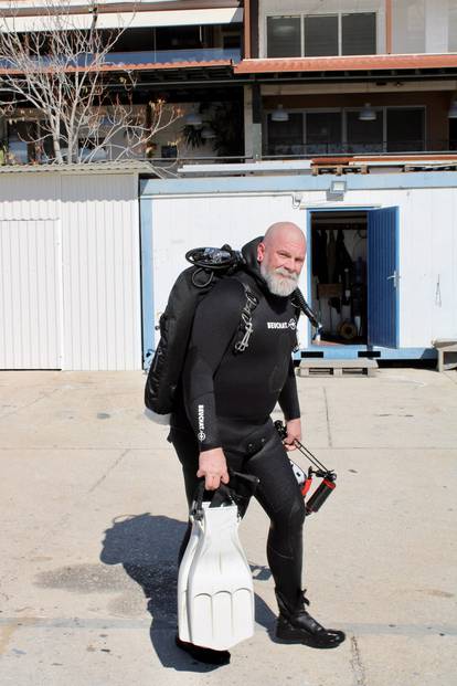
[[[305,241],[297,234],[279,233],[258,246],[261,274],[274,295],[286,297],[298,286],[306,255]]]

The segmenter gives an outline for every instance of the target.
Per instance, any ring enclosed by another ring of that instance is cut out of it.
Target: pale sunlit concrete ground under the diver
[[[272,641],[267,519],[253,504],[241,537],[256,632],[220,668],[173,644],[187,511],[144,381],[0,373],[1,686],[457,683],[457,372],[298,379],[305,442],[338,473],[307,520],[305,585],[311,613],[348,640]]]

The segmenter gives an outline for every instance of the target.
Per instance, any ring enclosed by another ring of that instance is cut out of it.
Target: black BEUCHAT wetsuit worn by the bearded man
[[[295,605],[301,589],[305,505],[269,415],[278,401],[286,420],[300,416],[291,361],[297,314],[289,298],[267,291],[256,261],[252,264],[252,275],[221,281],[198,307],[170,440],[189,503],[201,451],[222,446],[230,467],[259,478],[256,498],[270,519],[268,563],[276,590]],[[259,303],[248,348],[235,353],[246,302],[240,279]],[[182,551],[185,545],[187,539]]]

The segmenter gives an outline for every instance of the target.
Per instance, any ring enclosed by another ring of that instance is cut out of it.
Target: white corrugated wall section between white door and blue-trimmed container
[[[63,369],[141,369],[136,175],[62,178]]]

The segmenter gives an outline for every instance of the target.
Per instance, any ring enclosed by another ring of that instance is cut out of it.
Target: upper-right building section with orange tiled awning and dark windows
[[[245,6],[255,157],[455,150],[455,0]]]

